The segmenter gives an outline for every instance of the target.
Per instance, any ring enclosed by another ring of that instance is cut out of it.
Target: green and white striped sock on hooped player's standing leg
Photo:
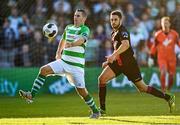
[[[84,97],[84,100],[85,100],[86,104],[91,108],[93,113],[99,112],[93,98],[89,94],[86,97]]]

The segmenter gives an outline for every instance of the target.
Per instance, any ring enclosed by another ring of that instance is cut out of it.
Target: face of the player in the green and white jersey
[[[85,17],[83,17],[82,12],[76,11],[74,13],[74,25],[79,26],[85,22]]]

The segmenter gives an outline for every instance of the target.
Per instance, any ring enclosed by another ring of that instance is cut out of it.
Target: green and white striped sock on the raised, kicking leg
[[[38,74],[36,79],[34,80],[32,89],[31,89],[31,94],[32,98],[34,98],[35,94],[40,90],[40,88],[44,85],[45,83],[45,78],[46,76],[43,76],[41,74]]]

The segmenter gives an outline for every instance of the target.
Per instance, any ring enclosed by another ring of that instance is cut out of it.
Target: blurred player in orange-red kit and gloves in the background
[[[151,57],[148,62],[153,64],[152,57],[157,54],[157,63],[160,70],[161,89],[163,92],[170,91],[176,73],[176,53],[175,46],[180,46],[179,34],[170,28],[170,17],[161,18],[162,29],[155,33],[154,43],[151,47]],[[168,86],[166,87],[166,74],[168,74]]]

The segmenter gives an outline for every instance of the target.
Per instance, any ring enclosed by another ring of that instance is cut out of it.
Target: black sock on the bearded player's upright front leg
[[[100,108],[102,110],[106,110],[106,85],[99,86],[99,100],[100,100]]]

